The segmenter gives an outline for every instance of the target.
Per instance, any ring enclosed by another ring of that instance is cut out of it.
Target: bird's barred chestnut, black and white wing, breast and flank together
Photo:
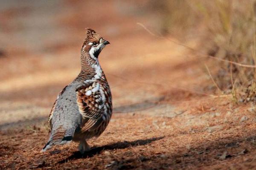
[[[105,76],[104,76],[105,77]],[[112,97],[107,81],[91,81],[76,90],[77,105],[83,116],[81,133],[78,138],[89,139],[99,136],[107,127],[112,115]]]

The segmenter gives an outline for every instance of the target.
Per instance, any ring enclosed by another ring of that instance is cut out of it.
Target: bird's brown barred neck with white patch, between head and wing
[[[98,58],[90,55],[89,52],[81,52],[81,71],[77,79],[81,81],[105,79]]]

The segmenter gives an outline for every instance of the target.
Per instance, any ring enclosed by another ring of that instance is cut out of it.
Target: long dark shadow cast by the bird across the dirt
[[[145,145],[145,144],[149,144],[153,141],[157,141],[157,140],[160,140],[163,138],[164,138],[164,136],[157,137],[157,138],[150,138],[150,139],[140,139],[140,140],[131,141],[131,142],[128,142],[128,141],[116,142],[116,143],[108,144],[108,145],[101,146],[101,147],[93,147],[89,152],[86,152],[84,154],[81,154],[79,151],[76,151],[73,153],[73,155],[69,156],[66,159],[59,161],[58,163],[63,164],[65,162],[73,160],[73,159],[90,158],[96,154],[101,153],[103,150],[124,149],[127,147],[136,147],[136,146],[140,146],[140,145]]]

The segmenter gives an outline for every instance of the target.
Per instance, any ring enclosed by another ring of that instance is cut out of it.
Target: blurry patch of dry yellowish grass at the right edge
[[[198,51],[205,51],[204,48],[208,48],[204,54],[220,60],[212,60],[213,66],[210,69],[215,73],[213,77],[221,90],[233,94],[234,101],[255,98],[255,0],[166,1],[163,11],[164,29],[170,30],[171,34],[176,34],[177,29],[180,29],[188,36],[195,33],[195,30],[201,30],[193,38],[202,37],[203,49],[200,48]],[[200,52],[198,55],[201,54]],[[223,62],[225,60],[230,62]],[[232,62],[240,65],[234,65]]]

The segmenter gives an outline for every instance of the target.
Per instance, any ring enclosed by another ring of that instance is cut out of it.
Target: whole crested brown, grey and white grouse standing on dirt
[[[102,134],[112,115],[112,96],[99,64],[99,54],[110,44],[91,28],[81,48],[81,71],[57,96],[49,113],[50,136],[42,152],[54,145],[79,142],[79,151],[90,151],[88,139]]]

